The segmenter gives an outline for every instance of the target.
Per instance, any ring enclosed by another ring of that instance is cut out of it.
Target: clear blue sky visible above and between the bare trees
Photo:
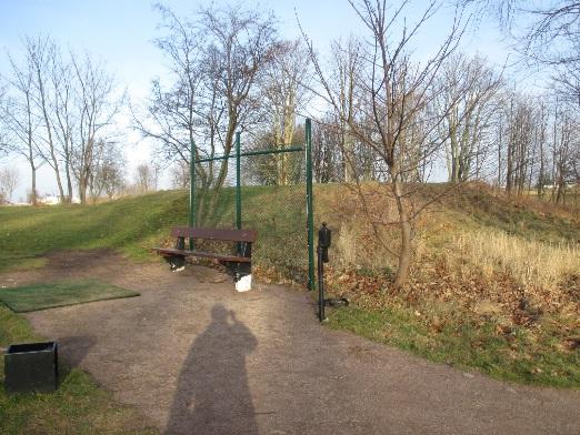
[[[220,4],[223,1],[214,1]],[[63,48],[73,51],[87,50],[103,60],[113,71],[120,88],[129,91],[132,101],[147,97],[150,80],[163,75],[163,58],[152,41],[159,34],[159,14],[148,0],[0,0],[0,73],[6,73],[8,62],[6,51],[18,58],[21,39],[24,36],[51,36]],[[302,28],[324,53],[331,40],[348,37],[349,33],[364,34],[364,29],[347,0],[279,0],[276,2],[247,2],[270,8],[280,20],[280,30],[286,38],[298,38]],[[210,2],[166,0],[179,16],[194,12]],[[424,1],[416,1],[417,6]],[[410,8],[419,10],[420,8]],[[417,47],[418,57],[429,53],[449,27],[451,11],[443,10],[437,19],[424,28]],[[410,22],[413,17],[410,17]],[[463,51],[486,54],[501,64],[507,55],[494,24],[484,23],[478,32],[468,33],[463,39]],[[129,136],[127,155],[130,169],[139,161],[148,160],[148,148],[138,145],[138,139]],[[2,165],[3,162],[0,162]],[[28,189],[28,171],[18,163],[21,183],[13,198],[24,196]],[[52,175],[44,170],[40,175],[40,192],[54,192]],[[130,173],[128,173],[130,175]]]

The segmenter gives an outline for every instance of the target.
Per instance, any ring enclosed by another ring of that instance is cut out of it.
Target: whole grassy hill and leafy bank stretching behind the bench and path
[[[419,198],[446,186],[426,186]],[[416,261],[407,289],[391,285],[396,227],[371,222],[393,215],[371,189],[370,208],[342,185],[317,185],[317,225],[333,232],[328,284],[353,304],[331,313],[330,326],[394,344],[430,360],[476,367],[532,384],[580,386],[580,218],[578,210],[513,201],[483,185],[466,186],[429,208],[414,229]],[[42,265],[52,250],[109,247],[137,261],[170,244],[187,223],[188,194],[166,191],[92,206],[0,209],[0,270]],[[247,188],[244,226],[259,231],[254,273],[306,280],[306,215],[301,186]],[[231,226],[226,190],[209,224]],[[374,236],[380,235],[380,240]]]

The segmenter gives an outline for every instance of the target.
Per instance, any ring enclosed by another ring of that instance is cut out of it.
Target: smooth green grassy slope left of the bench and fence
[[[0,267],[33,261],[50,251],[111,247],[143,259],[187,215],[182,192],[122,199],[97,206],[1,208]]]

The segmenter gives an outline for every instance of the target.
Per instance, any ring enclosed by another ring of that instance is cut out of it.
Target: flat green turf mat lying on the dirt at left
[[[94,280],[0,289],[0,301],[16,313],[132,296],[139,293]]]

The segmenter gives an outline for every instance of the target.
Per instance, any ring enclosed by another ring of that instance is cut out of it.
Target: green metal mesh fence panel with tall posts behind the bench
[[[252,261],[314,287],[312,131],[304,143],[191,159],[190,226],[254,229]],[[196,149],[192,146],[192,155]],[[189,241],[193,247],[193,240]]]

